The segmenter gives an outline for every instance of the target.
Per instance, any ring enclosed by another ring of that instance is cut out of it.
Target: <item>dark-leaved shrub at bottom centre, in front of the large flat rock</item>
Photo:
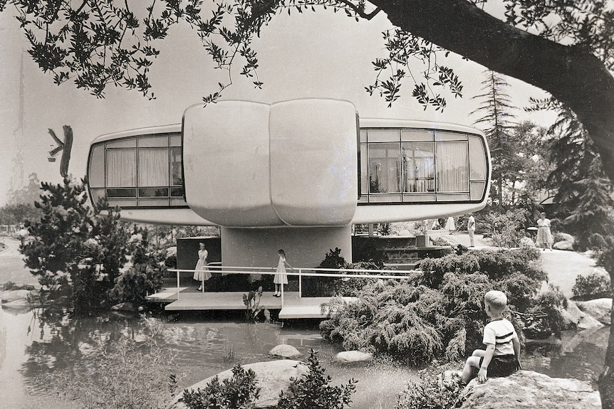
[[[316,354],[313,349],[309,351],[308,373],[292,378],[288,393],[280,394],[276,409],[343,409],[352,403],[356,381],[350,379],[347,385],[332,386],[332,378],[326,375]]]

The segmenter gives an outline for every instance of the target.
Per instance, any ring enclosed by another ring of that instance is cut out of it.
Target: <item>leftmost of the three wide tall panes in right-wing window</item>
[[[369,144],[370,193],[399,193],[401,166],[399,144]]]

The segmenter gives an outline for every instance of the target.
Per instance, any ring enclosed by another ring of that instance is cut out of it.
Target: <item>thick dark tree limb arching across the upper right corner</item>
[[[466,0],[371,0],[395,26],[549,92],[576,113],[614,181],[614,78],[587,48],[562,46]]]

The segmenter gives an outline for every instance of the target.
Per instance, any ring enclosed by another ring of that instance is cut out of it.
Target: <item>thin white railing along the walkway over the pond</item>
[[[223,274],[264,274],[276,275],[276,267],[228,267],[212,262],[207,264],[209,272],[222,272]],[[271,271],[273,270],[273,271]],[[190,272],[194,274],[196,270],[170,268],[168,271],[177,272],[177,299],[179,299],[179,273]],[[397,274],[391,275],[394,271]],[[365,273],[365,274],[360,274]],[[382,274],[388,273],[388,274]],[[303,268],[293,267],[286,270],[286,275],[298,276],[298,297],[303,296],[303,277],[329,277],[329,278],[374,278],[381,280],[407,280],[416,275],[422,274],[421,270],[360,270],[350,268]],[[204,292],[204,280],[201,280],[201,292]],[[281,284],[281,306],[283,307],[283,283]]]

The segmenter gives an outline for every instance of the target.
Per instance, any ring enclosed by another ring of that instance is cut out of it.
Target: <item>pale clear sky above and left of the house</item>
[[[222,100],[278,102],[303,97],[323,97],[353,102],[360,117],[385,117],[452,122],[472,126],[478,118],[470,115],[479,101],[485,70],[451,54],[445,63],[454,68],[464,84],[464,97],[447,97],[444,112],[423,110],[411,97],[412,83],[402,87],[402,97],[391,108],[365,87],[375,80],[372,61],[385,56],[382,32],[392,28],[384,14],[371,21],[356,22],[341,13],[281,14],[262,29],[253,48],[259,53],[259,80],[262,90],[238,72]],[[159,44],[161,55],[150,72],[155,100],[136,90],[109,86],[104,99],[77,90],[70,81],[54,85],[51,75],[41,72],[31,60],[27,41],[9,7],[0,13],[0,206],[10,189],[28,184],[36,173],[41,181],[59,183],[60,159],[48,161],[56,147],[48,134],[62,135],[63,125],[73,129],[74,142],[68,168],[76,178],[85,176],[90,142],[101,134],[139,127],[177,124],[187,107],[217,90],[226,79],[214,70],[197,36],[187,26],[174,26],[169,38]],[[23,57],[23,58],[22,58]],[[23,63],[22,63],[23,61]],[[22,70],[23,64],[23,70]],[[415,70],[420,70],[417,64]],[[546,97],[538,88],[514,78],[506,78],[506,92],[516,107],[524,107],[529,97]],[[550,113],[518,110],[516,120],[530,119],[547,127]]]

